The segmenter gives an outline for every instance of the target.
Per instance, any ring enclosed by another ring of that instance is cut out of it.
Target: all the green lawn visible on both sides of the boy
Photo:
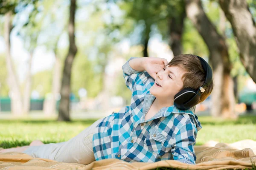
[[[226,143],[244,139],[256,140],[256,116],[240,116],[238,120],[221,120],[209,116],[201,116],[198,119],[203,128],[198,132],[197,145],[209,140]],[[96,119],[73,122],[56,122],[49,119],[0,120],[0,147],[24,146],[38,139],[44,143],[67,141],[95,121]]]

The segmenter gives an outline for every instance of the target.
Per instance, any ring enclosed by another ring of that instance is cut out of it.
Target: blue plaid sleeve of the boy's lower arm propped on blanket
[[[175,144],[171,152],[173,159],[186,164],[195,164],[196,156],[194,145],[197,130],[190,120],[182,125],[175,135]]]

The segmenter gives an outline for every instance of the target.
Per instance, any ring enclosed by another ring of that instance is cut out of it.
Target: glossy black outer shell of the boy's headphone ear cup
[[[180,110],[187,110],[187,105],[185,106],[186,102],[191,100],[196,94],[197,91],[195,91],[195,89],[184,88],[174,96],[175,107]]]

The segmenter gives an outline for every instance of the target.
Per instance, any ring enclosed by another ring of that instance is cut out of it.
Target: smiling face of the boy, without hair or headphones
[[[183,87],[181,77],[186,72],[178,66],[166,65],[162,71],[157,73],[154,85],[150,88],[150,93],[156,98],[166,101],[173,101],[175,94],[177,94]]]

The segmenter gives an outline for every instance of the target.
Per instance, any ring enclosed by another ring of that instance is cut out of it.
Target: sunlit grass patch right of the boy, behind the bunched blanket
[[[256,115],[240,116],[238,120],[222,120],[209,116],[198,118],[202,129],[198,132],[197,145],[209,140],[233,143],[244,139],[256,140]]]

